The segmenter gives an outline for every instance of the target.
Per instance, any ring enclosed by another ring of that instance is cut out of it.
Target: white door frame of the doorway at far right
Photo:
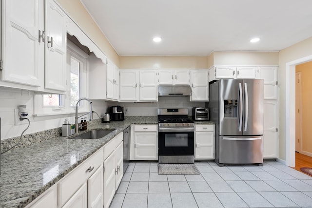
[[[286,165],[290,167],[295,166],[295,138],[296,138],[296,128],[295,128],[295,74],[296,65],[302,64],[312,60],[312,55],[307,57],[302,57],[291,62],[286,63],[286,126],[285,126],[285,136],[286,136]]]

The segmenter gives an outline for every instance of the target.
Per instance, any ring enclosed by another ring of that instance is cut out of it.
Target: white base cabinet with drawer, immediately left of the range
[[[135,125],[134,144],[131,145],[132,148],[130,148],[133,159],[157,160],[157,136],[157,125]]]

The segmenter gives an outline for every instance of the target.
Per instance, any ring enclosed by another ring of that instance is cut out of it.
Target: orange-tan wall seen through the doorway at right
[[[312,154],[312,61],[296,66],[296,72],[301,72],[302,95],[302,151]],[[297,108],[297,107],[296,107]]]

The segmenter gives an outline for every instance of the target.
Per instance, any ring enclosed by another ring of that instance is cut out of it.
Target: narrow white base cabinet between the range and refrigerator
[[[195,160],[215,159],[215,125],[195,124]]]

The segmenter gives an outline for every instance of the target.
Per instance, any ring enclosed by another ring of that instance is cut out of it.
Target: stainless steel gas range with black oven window
[[[194,121],[187,108],[158,108],[158,163],[194,163]]]

